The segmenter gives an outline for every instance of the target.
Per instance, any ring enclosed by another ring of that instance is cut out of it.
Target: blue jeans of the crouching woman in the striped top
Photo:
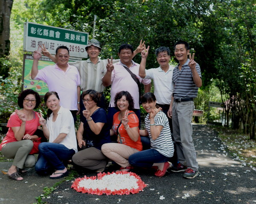
[[[129,156],[129,163],[137,167],[152,167],[154,163],[163,163],[169,160],[155,149],[143,150]]]

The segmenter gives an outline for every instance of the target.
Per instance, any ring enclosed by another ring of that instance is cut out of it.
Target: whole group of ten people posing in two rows
[[[7,175],[21,181],[24,169],[35,166],[40,175],[62,178],[68,175],[65,161],[72,159],[74,166],[97,173],[105,170],[108,161],[114,161],[119,171],[147,167],[160,177],[170,168],[185,172],[185,178],[198,176],[191,122],[193,99],[202,85],[200,67],[194,54],[189,54],[189,44],[179,41],[175,43],[179,61],[175,68],[169,65],[170,49],[160,47],[155,52],[160,67],[146,70],[149,46],[144,43],[141,40],[135,51],[131,45],[122,44],[119,60],[99,59],[102,48],[95,39],[85,47],[89,56],[86,61],[69,62],[65,46],[58,47],[55,56],[44,45],[35,51],[31,77],[48,85],[49,92],[44,96],[47,117],[33,111],[41,103],[37,92],[27,89],[20,94],[21,110],[10,116],[9,130],[0,144],[3,155],[14,159]],[[132,60],[137,53],[142,56],[140,64]],[[38,70],[42,54],[56,64]],[[154,94],[150,92],[151,79]],[[143,95],[140,83],[144,84]],[[103,90],[109,85],[107,114]],[[140,129],[140,103],[148,113],[145,130]],[[80,125],[75,133],[79,113]],[[31,151],[43,137],[48,142],[39,144],[36,162]]]

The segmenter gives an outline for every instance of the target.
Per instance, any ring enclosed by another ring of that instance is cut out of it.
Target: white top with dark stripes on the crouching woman
[[[167,116],[162,111],[158,112],[154,117],[154,122],[157,125],[162,125],[163,130],[160,132],[160,135],[157,139],[153,140],[150,134],[150,119],[149,113],[145,117],[145,127],[150,138],[151,148],[157,150],[159,153],[167,157],[172,157],[174,153],[174,146],[172,142],[171,130]]]

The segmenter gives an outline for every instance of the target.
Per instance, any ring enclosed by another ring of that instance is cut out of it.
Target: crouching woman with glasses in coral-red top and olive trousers
[[[41,103],[37,92],[27,89],[18,96],[18,105],[21,110],[15,110],[8,120],[9,127],[6,137],[0,144],[0,150],[8,159],[14,159],[7,176],[16,181],[23,178],[17,172],[18,169],[32,168],[35,166],[35,156],[29,155],[33,147],[33,141],[38,139],[35,131],[40,129],[38,114],[33,109]],[[41,131],[41,130],[40,130]]]

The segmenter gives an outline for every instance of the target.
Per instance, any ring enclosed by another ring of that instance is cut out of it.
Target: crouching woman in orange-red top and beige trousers
[[[120,91],[115,96],[115,106],[119,112],[113,116],[113,127],[110,135],[117,135],[118,143],[102,145],[102,153],[121,166],[120,170],[132,169],[128,158],[130,155],[142,150],[140,141],[139,119],[131,111],[134,108],[134,100],[128,91]]]

